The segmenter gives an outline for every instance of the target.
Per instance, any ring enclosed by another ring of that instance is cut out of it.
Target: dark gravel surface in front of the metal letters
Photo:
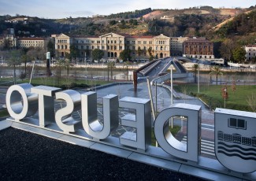
[[[201,180],[10,127],[0,131],[0,180]]]

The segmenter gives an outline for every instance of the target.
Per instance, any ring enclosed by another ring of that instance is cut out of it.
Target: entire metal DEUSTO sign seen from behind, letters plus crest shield
[[[148,154],[154,123],[154,135],[161,147],[159,149],[174,157],[198,162],[201,152],[201,106],[173,104],[158,113],[157,118],[152,121],[149,99],[125,97],[118,100],[115,94],[106,95],[102,99],[102,122],[97,116],[97,94],[92,91],[80,94],[76,90],[33,87],[29,83],[22,83],[9,87],[6,93],[6,106],[14,121],[25,122],[38,112],[38,124],[34,126],[49,129],[50,125],[54,124],[67,135],[76,135],[77,132],[83,131],[84,139],[95,142],[106,143],[112,138],[110,134],[117,130],[119,124],[134,127],[135,132],[124,131],[118,138],[119,141],[111,143],[110,146],[145,154]],[[65,102],[66,105],[54,112],[54,102],[58,101]],[[135,111],[122,116],[119,121],[119,109]],[[71,115],[77,110],[81,110],[80,120],[74,120]],[[169,131],[169,119],[175,116],[187,118],[187,143],[175,139]],[[236,172],[254,172],[256,113],[217,109],[214,117],[215,154],[218,161]],[[236,153],[233,153],[234,150]],[[236,164],[237,161],[241,164]]]

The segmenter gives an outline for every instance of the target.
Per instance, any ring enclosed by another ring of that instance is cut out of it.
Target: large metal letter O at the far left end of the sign
[[[14,120],[34,115],[38,110],[38,95],[31,93],[32,85],[22,83],[9,87],[6,93],[6,107]]]

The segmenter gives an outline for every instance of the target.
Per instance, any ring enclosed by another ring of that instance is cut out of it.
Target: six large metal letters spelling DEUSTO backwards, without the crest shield
[[[54,99],[64,100],[66,106],[54,114]],[[142,98],[121,98],[109,94],[103,97],[103,125],[97,118],[97,95],[95,92],[80,94],[76,90],[63,90],[56,87],[22,83],[9,87],[6,93],[6,106],[9,115],[20,121],[39,111],[39,127],[46,127],[54,121],[65,133],[83,128],[95,140],[106,139],[119,124],[118,108],[135,109],[135,115],[121,118],[121,125],[135,127],[136,133],[124,132],[120,144],[136,150],[146,151],[151,143],[150,100]],[[82,119],[74,120],[71,113],[81,109]],[[198,105],[173,105],[158,114],[154,120],[154,135],[159,146],[175,157],[198,161],[198,139],[200,138],[201,107]],[[172,116],[187,116],[187,144],[176,140],[169,131],[168,121]]]

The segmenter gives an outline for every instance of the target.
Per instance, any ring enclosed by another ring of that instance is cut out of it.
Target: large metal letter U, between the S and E
[[[97,116],[97,94],[87,92],[81,94],[83,128],[93,139],[106,139],[111,131],[118,127],[118,97],[107,95],[103,97],[103,125]]]

